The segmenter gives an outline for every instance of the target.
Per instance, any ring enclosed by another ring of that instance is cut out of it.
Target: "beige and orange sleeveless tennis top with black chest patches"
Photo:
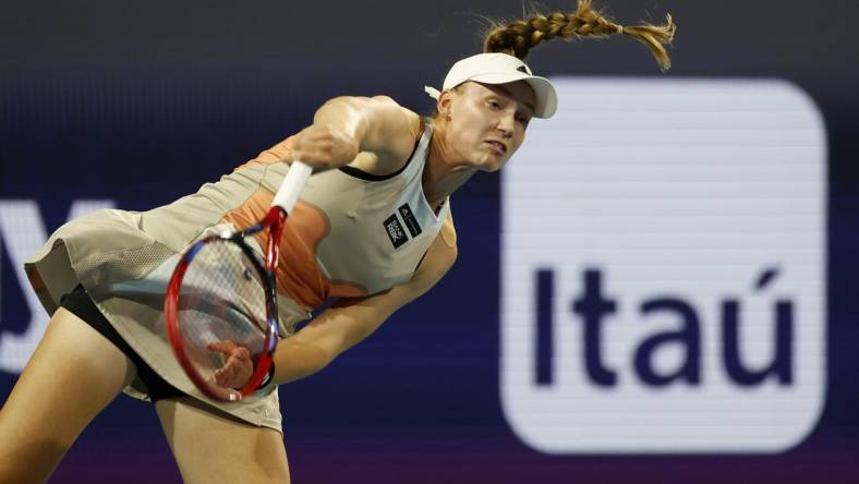
[[[431,138],[432,126],[425,124],[414,152],[396,173],[379,177],[343,167],[310,178],[283,230],[279,293],[312,308],[331,297],[374,294],[412,277],[450,213],[449,199],[435,213],[424,196],[422,177]],[[247,177],[245,170],[251,169],[262,178],[258,190],[222,221],[241,228],[265,215],[289,171],[286,164],[271,161],[289,143],[225,177],[246,183],[255,178]],[[264,240],[259,242],[265,246]]]

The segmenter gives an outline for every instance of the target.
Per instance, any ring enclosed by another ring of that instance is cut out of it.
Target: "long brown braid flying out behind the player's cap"
[[[524,59],[531,48],[544,40],[560,37],[565,40],[582,37],[605,38],[612,34],[626,34],[648,46],[663,70],[672,66],[665,45],[674,39],[677,25],[666,15],[664,25],[642,24],[622,26],[593,10],[591,0],[579,0],[572,13],[536,13],[527,21],[518,20],[508,25],[497,24],[486,35],[484,52],[505,52]]]

